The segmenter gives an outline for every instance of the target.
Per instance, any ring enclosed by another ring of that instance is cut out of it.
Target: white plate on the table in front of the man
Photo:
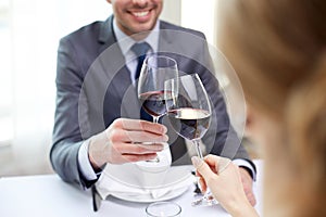
[[[120,166],[120,171],[126,171],[124,175],[120,173],[114,176],[114,171],[117,168],[117,166],[114,166],[103,173],[97,182],[97,190],[102,199],[113,195],[121,199],[130,197],[131,201],[139,202],[158,201],[166,196],[174,197],[179,195],[195,181],[195,177],[190,173],[191,166],[176,166],[170,167],[165,177],[162,177],[164,181],[155,188],[142,187],[140,179],[137,177],[141,176],[141,174],[135,170],[131,171],[135,168],[131,168],[130,165]]]

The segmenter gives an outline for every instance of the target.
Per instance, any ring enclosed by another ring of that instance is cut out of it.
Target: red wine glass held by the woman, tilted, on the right
[[[180,76],[165,82],[167,116],[174,130],[185,139],[192,141],[198,156],[203,159],[200,139],[211,123],[211,103],[198,74]],[[192,205],[213,205],[217,201],[206,191],[202,199]]]

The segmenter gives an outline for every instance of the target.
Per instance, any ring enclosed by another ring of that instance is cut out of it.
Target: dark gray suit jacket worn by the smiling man
[[[206,150],[251,163],[230,126],[204,35],[161,21],[159,52],[175,59],[180,72],[198,73],[205,86],[213,105],[212,124],[203,138]],[[86,181],[78,169],[80,144],[118,117],[139,118],[139,103],[126,61],[116,43],[112,16],[61,39],[50,159],[63,180],[90,187],[93,182]],[[166,119],[163,124],[171,127]],[[190,163],[184,139],[172,129],[168,136],[174,164]]]

